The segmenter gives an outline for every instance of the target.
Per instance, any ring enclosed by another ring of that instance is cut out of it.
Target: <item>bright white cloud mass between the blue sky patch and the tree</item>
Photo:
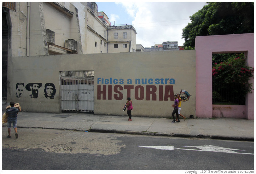
[[[205,2],[145,2],[121,1],[128,15],[134,18],[136,43],[144,47],[178,41],[182,46],[182,29],[190,22],[189,16],[202,9]]]

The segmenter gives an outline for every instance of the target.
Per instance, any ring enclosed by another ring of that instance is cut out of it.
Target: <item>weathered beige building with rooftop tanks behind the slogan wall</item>
[[[1,9],[3,97],[7,96],[8,57],[136,51],[136,30],[110,26],[107,15],[98,14],[95,2],[3,2]],[[122,32],[113,40],[115,31]],[[124,39],[123,32],[127,33]],[[119,44],[118,49],[112,48],[114,44]]]

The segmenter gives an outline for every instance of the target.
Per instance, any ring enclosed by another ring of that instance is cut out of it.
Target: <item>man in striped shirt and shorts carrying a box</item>
[[[19,112],[18,108],[14,107],[15,103],[13,101],[10,102],[10,106],[8,109],[6,109],[7,117],[7,127],[8,127],[8,136],[7,138],[11,137],[11,125],[13,126],[15,130],[15,137],[18,138],[17,134],[17,114]]]

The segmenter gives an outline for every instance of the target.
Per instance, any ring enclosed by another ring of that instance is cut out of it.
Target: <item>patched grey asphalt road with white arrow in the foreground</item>
[[[16,139],[2,131],[2,170],[254,169],[254,142],[33,128],[19,128]]]

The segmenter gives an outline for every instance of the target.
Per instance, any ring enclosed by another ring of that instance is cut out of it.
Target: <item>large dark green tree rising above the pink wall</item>
[[[207,2],[182,29],[183,46],[195,47],[196,36],[254,32],[254,2]]]

